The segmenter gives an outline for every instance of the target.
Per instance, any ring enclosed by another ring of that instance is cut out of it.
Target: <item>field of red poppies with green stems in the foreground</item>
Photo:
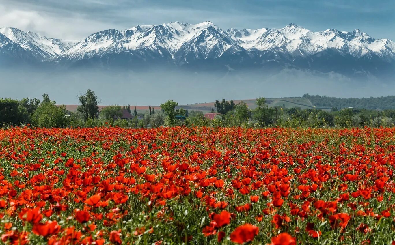
[[[0,130],[4,244],[395,244],[395,129]]]

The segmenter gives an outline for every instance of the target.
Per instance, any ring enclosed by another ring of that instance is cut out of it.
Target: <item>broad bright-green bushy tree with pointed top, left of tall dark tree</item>
[[[66,112],[64,105],[56,106],[47,94],[43,95],[43,101],[32,115],[33,122],[39,127],[66,127],[73,118]]]

